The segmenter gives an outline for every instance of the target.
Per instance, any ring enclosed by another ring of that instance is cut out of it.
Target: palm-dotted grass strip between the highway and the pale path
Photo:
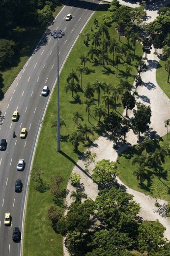
[[[104,9],[108,5],[99,7],[103,10],[94,13],[60,74],[60,153],[56,152],[55,139],[56,89],[43,120],[33,163],[39,175],[32,174],[29,185],[24,256],[62,255],[62,236],[55,223],[65,209],[65,189],[74,165],[85,149],[106,132],[110,114],[117,118],[113,140],[123,140],[127,132],[120,118],[126,107],[121,98],[132,88],[133,76],[142,65],[142,45],[132,40],[134,27],[124,15],[124,11],[128,13],[125,6],[122,16],[131,24],[131,33],[126,37],[117,31],[117,18]],[[121,134],[117,133],[120,126]]]

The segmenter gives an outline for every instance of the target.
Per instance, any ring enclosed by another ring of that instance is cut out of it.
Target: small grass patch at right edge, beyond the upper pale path
[[[165,61],[159,61],[159,66],[156,70],[156,80],[161,89],[170,98],[170,83],[167,83],[168,72],[165,70]]]

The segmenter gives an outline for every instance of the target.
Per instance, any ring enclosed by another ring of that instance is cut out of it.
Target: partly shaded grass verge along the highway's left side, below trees
[[[56,17],[62,6],[63,5],[56,7],[55,11],[53,12],[54,17]],[[39,28],[32,28],[31,30],[17,29],[12,31],[11,38],[14,38],[14,40],[18,42],[20,50],[18,55],[15,57],[15,63],[13,66],[5,71],[0,71],[0,74],[2,75],[2,83],[0,85],[2,94],[6,93],[13,80],[20,72],[21,68],[25,65],[43,33],[44,30],[40,30]]]

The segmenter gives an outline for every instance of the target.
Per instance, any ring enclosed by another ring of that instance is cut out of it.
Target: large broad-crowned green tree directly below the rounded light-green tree
[[[105,223],[106,229],[115,227],[117,231],[134,234],[140,206],[132,199],[133,195],[115,187],[99,191],[95,200],[98,220]]]

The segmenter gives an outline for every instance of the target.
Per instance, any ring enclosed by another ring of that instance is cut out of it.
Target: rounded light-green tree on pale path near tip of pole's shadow
[[[98,161],[93,169],[92,179],[98,185],[106,186],[115,182],[117,176],[117,164],[110,160]]]

